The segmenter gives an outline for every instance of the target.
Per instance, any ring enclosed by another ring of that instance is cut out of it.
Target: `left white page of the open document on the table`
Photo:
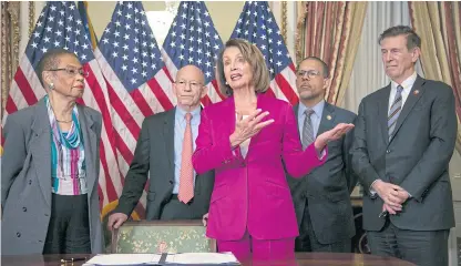
[[[160,254],[101,254],[92,257],[83,266],[91,265],[155,265]]]

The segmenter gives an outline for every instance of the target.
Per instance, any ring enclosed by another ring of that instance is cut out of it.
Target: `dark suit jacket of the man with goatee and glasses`
[[[294,108],[296,115],[298,109],[299,105]],[[356,116],[352,112],[325,103],[317,135],[339,123],[354,123]],[[328,143],[327,162],[304,178],[295,180],[287,174],[298,226],[305,207],[308,207],[314,232],[321,244],[348,239],[356,234],[350,203],[350,193],[357,183],[349,156],[352,140],[354,133],[348,132],[341,140]]]

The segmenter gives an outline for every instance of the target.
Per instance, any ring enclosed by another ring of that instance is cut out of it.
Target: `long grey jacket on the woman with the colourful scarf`
[[[86,165],[91,252],[103,248],[98,181],[101,113],[78,105]],[[41,254],[51,215],[51,126],[44,99],[8,116],[1,167],[2,254]],[[8,243],[8,245],[7,245]]]

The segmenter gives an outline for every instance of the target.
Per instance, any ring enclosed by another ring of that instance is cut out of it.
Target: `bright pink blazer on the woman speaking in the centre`
[[[201,114],[194,168],[198,174],[215,170],[208,237],[237,241],[246,229],[258,239],[298,235],[283,161],[289,174],[301,177],[321,165],[327,154],[319,160],[314,145],[303,152],[295,113],[287,102],[262,94],[257,108],[269,111],[266,120],[275,122],[252,137],[245,158],[238,147],[230,149],[234,98],[207,106]]]

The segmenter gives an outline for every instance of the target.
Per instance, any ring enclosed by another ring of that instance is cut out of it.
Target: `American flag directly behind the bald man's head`
[[[163,43],[162,54],[172,76],[187,64],[198,66],[205,75],[208,93],[202,99],[207,105],[224,99],[215,78],[215,60],[223,48],[208,9],[203,1],[182,1],[176,18]]]

